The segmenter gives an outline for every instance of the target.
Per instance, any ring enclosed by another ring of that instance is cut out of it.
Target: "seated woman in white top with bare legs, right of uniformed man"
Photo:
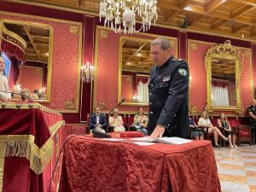
[[[211,132],[213,133],[215,147],[219,147],[218,136],[222,137],[225,141],[229,140],[229,138],[224,137],[224,135],[221,133],[221,131],[218,130],[216,126],[212,125],[211,120],[209,119],[209,116],[207,114],[207,111],[204,111],[201,114],[201,118],[198,120],[197,125],[198,127],[201,127],[201,128],[208,128],[208,133],[211,133]]]

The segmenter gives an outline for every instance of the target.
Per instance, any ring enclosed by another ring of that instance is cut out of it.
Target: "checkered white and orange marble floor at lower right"
[[[214,148],[222,192],[256,192],[256,145]]]

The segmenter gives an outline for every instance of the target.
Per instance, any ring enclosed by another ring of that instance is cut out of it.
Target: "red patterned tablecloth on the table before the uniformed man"
[[[220,192],[209,141],[139,146],[71,136],[65,146],[61,192]]]

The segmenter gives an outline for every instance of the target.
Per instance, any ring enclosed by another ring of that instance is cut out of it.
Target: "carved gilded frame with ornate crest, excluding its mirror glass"
[[[212,106],[212,58],[230,59],[235,62],[236,74],[236,105],[235,106]],[[243,111],[241,105],[241,89],[240,89],[240,75],[241,75],[241,55],[239,49],[230,44],[230,40],[224,44],[213,45],[208,49],[205,57],[205,67],[207,71],[207,106],[208,112],[214,111],[233,111],[241,114]]]

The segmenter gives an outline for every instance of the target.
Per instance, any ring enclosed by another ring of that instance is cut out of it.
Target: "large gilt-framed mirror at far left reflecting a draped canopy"
[[[1,46],[9,89],[29,90],[34,100],[49,102],[53,28],[20,20],[1,20]],[[13,94],[13,99],[19,96]]]

